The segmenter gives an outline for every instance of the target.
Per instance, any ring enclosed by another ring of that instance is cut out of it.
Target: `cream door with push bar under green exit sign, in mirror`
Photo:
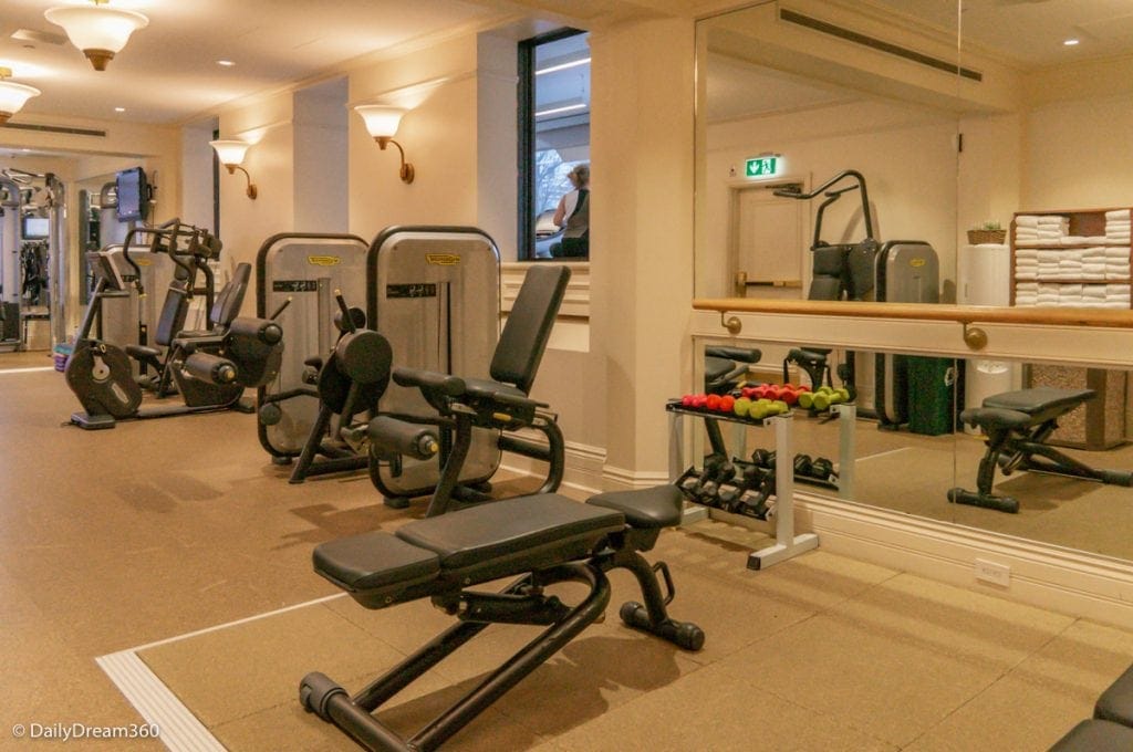
[[[775,196],[774,189],[782,187],[760,185],[732,191],[730,257],[736,296],[806,298],[808,203]]]

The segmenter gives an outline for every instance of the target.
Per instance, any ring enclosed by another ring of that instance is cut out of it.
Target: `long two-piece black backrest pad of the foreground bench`
[[[625,527],[613,510],[542,494],[416,520],[315,548],[315,571],[384,608],[589,556]]]

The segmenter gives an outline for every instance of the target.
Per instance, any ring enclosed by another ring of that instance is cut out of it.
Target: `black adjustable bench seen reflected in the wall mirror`
[[[964,410],[960,413],[960,419],[983,430],[987,436],[987,453],[980,460],[978,490],[953,488],[948,492],[948,501],[999,512],[1019,512],[1016,499],[997,496],[991,492],[997,465],[1004,475],[1011,475],[1015,470],[1031,470],[1116,486],[1133,486],[1131,472],[1096,470],[1045,443],[1058,428],[1059,418],[1096,395],[1093,390],[1038,386],[994,394],[983,400],[983,407]]]

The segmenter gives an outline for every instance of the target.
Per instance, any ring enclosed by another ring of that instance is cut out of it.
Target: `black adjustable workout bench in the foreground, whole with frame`
[[[641,556],[662,528],[680,519],[681,493],[674,486],[599,494],[586,504],[540,494],[417,520],[394,535],[369,532],[323,544],[315,549],[315,571],[366,608],[429,597],[459,621],[353,698],[312,673],[299,685],[299,700],[366,749],[436,749],[602,616],[610,601],[605,572],[614,567],[633,573],[645,600],[644,606],[622,605],[625,624],[699,650],[704,632],[666,613],[673,598],[668,567],[663,562],[650,566]],[[657,572],[667,596],[662,596]],[[516,575],[497,593],[470,589]],[[577,606],[544,592],[546,586],[569,580],[589,588]],[[375,709],[496,623],[546,630],[411,738],[374,718]]]

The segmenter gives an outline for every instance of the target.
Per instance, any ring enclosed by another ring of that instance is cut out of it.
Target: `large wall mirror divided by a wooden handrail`
[[[697,297],[1131,307],[1127,3],[761,2],[701,20],[697,55]],[[862,283],[853,260],[867,240],[875,263],[908,258],[914,271],[878,285],[871,268]],[[755,376],[775,378],[789,349],[761,347]],[[829,358],[863,413],[885,404],[884,360]],[[1133,559],[1121,533],[1133,515],[1125,371],[921,365],[955,379],[951,422],[914,431],[879,428],[884,415],[859,420],[853,501]],[[1049,442],[1117,482],[999,468],[994,490],[1016,498],[1017,513],[949,503],[952,488],[977,490],[985,455],[955,412],[1032,386],[1098,392]],[[833,458],[837,430],[801,421],[799,451]]]

